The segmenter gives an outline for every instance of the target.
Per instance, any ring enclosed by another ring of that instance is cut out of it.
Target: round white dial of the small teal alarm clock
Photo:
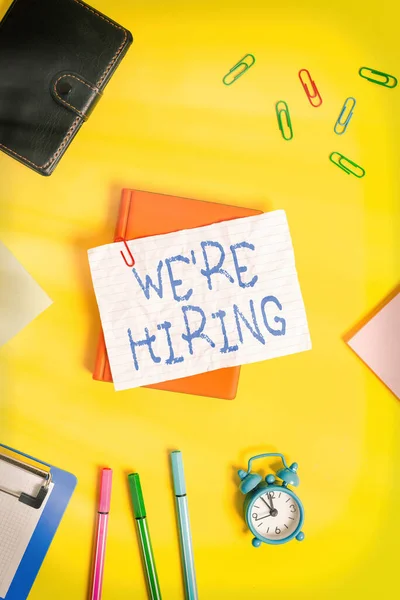
[[[248,515],[255,535],[279,543],[295,533],[302,508],[296,497],[284,488],[266,488],[251,503]]]

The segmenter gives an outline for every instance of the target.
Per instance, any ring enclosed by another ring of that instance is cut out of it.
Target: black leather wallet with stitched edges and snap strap
[[[0,23],[0,148],[50,175],[131,43],[80,0],[14,0]]]

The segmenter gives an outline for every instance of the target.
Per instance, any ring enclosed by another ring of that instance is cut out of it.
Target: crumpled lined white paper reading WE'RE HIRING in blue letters
[[[311,348],[284,211],[128,245],[88,252],[116,390]]]

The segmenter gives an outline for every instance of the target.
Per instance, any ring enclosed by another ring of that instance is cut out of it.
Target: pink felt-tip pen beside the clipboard
[[[104,560],[106,555],[108,513],[110,512],[112,470],[101,472],[100,499],[97,520],[96,553],[93,566],[91,600],[100,600],[103,588]]]

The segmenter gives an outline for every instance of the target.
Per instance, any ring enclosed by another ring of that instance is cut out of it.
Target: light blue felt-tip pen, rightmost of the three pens
[[[182,453],[179,450],[171,452],[171,463],[176,499],[176,512],[179,523],[179,541],[182,552],[182,568],[185,580],[185,597],[187,600],[197,600],[196,571],[194,568],[192,534],[190,532],[185,474],[183,472]]]

